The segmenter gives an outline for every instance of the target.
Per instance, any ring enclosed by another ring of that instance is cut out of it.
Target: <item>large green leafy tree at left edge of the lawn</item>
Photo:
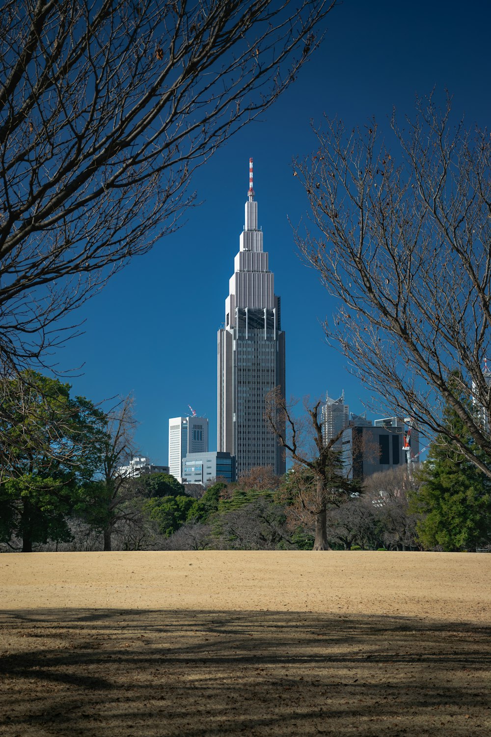
[[[105,415],[70,385],[24,371],[6,380],[0,420],[9,453],[0,476],[0,539],[22,539],[22,551],[36,542],[68,541],[67,515],[97,467]],[[8,419],[5,419],[7,417]]]

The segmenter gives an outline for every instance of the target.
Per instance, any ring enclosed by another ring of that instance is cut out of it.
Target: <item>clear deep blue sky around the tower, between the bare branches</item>
[[[286,392],[338,397],[363,411],[361,385],[325,342],[332,315],[316,273],[298,259],[292,223],[307,202],[292,158],[314,148],[309,120],[339,115],[348,125],[370,116],[387,125],[392,107],[411,115],[415,94],[453,94],[468,125],[490,119],[491,6],[481,0],[345,0],[328,16],[325,41],[297,82],[261,122],[241,131],[194,177],[197,201],[177,234],[133,260],[77,317],[84,335],[57,354],[58,368],[82,366],[74,394],[98,402],[133,392],[138,450],[166,463],[169,417],[191,405],[210,422],[216,450],[216,331],[244,223],[249,157],[264,250],[275,273],[286,332]],[[388,139],[389,140],[389,139]]]

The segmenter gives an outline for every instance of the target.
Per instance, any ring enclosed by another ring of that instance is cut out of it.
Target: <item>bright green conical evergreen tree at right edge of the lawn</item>
[[[458,382],[451,385],[456,391]],[[467,402],[471,411],[471,402],[462,397],[462,391],[459,394],[459,402]],[[424,548],[473,551],[491,541],[491,484],[461,447],[472,446],[471,453],[479,456],[481,464],[489,464],[489,458],[475,447],[466,423],[450,404],[445,406],[444,421],[448,433],[431,443],[420,472],[420,489],[411,499],[412,509],[422,515],[417,537]],[[458,436],[459,445],[449,436]]]

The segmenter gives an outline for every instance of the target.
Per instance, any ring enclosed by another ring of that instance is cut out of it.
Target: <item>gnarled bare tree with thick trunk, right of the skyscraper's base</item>
[[[300,501],[308,514],[315,517],[314,551],[329,549],[327,537],[327,509],[338,504],[347,492],[356,487],[347,478],[335,444],[341,433],[324,444],[319,411],[322,400],[314,405],[304,401],[305,416],[294,416],[295,400],[287,402],[280,387],[266,395],[265,417],[286,452],[307,469],[307,484],[298,486]],[[303,479],[305,481],[305,479]]]

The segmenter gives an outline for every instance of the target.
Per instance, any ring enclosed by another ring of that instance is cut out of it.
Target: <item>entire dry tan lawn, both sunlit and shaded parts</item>
[[[0,556],[0,736],[491,734],[491,555]]]

